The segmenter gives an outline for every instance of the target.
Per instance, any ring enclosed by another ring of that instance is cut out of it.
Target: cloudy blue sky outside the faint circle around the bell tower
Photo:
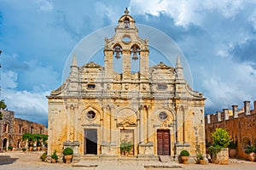
[[[45,96],[61,85],[73,48],[116,25],[125,7],[177,43],[206,113],[256,99],[255,0],[0,0],[1,99],[9,110],[46,124]]]

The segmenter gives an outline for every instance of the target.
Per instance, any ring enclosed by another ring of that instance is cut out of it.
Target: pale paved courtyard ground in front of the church
[[[166,169],[221,169],[221,170],[254,170],[256,169],[256,162],[250,161],[237,161],[231,160],[232,162],[229,165],[215,165],[215,164],[207,164],[207,165],[197,165],[197,164],[177,164],[177,163],[162,163],[162,162],[154,162],[154,165],[158,167],[144,167],[144,165],[149,165],[150,162],[138,162],[138,161],[84,161],[79,164],[75,164],[76,167],[73,167],[74,164],[65,164],[65,163],[45,163],[39,159],[39,156],[43,152],[27,152],[22,153],[19,151],[16,152],[3,152],[0,153],[0,169],[52,169],[52,170],[66,170],[66,169],[74,169],[74,170],[102,170],[102,169],[124,169],[124,170],[166,170]],[[166,167],[166,165],[171,165]],[[83,166],[84,165],[84,166]],[[153,165],[153,164],[152,164]],[[161,165],[164,165],[164,167]],[[92,166],[92,167],[90,167]]]

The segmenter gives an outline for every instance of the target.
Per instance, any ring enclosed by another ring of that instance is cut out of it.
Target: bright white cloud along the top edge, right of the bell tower
[[[244,0],[181,0],[181,1],[147,1],[131,0],[130,6],[134,14],[160,13],[171,16],[177,26],[189,24],[201,25],[201,20],[206,11],[218,10],[226,18],[234,17],[243,8]]]

